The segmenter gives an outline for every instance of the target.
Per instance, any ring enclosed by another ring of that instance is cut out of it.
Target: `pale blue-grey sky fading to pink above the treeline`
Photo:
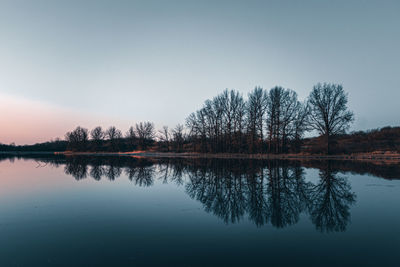
[[[400,1],[0,0],[0,143],[174,127],[224,89],[343,85],[351,130],[400,125]]]

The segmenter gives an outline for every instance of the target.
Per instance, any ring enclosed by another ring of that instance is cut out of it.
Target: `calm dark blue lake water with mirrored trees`
[[[0,266],[400,266],[400,165],[0,158]]]

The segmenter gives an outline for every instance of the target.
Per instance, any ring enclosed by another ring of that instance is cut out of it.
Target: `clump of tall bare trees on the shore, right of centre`
[[[354,120],[347,109],[347,94],[337,84],[317,84],[307,101],[291,89],[256,87],[247,100],[225,90],[186,120],[192,149],[201,152],[300,152],[307,131],[332,138],[344,133]]]

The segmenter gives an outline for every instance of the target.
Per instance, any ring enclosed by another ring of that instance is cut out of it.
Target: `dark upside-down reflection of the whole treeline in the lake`
[[[304,213],[319,231],[345,231],[356,199],[348,180],[329,161],[319,162],[316,183],[307,181],[296,161],[86,156],[41,161],[65,164],[65,173],[76,180],[91,176],[113,181],[124,172],[141,187],[152,186],[156,179],[182,185],[205,211],[227,224],[247,217],[257,226],[284,228]]]

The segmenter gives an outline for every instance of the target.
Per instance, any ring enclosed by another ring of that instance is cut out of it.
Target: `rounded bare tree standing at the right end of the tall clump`
[[[353,112],[347,109],[347,94],[343,86],[318,83],[308,99],[309,125],[326,138],[326,152],[330,153],[331,137],[345,133],[354,121]]]

